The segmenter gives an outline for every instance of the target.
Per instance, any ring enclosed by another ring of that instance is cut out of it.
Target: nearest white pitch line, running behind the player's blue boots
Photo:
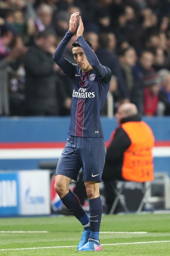
[[[102,244],[103,245],[135,245],[135,244],[151,244],[151,243],[167,243],[169,241],[148,241],[148,242],[133,242],[133,243],[116,243],[116,244]],[[0,251],[13,251],[13,250],[35,250],[35,249],[52,249],[52,248],[70,248],[77,247],[77,245],[69,246],[50,246],[50,247],[32,247],[32,248],[16,248],[16,249],[0,249]]]

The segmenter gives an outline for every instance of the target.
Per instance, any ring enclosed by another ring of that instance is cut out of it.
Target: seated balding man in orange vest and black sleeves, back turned
[[[115,117],[119,126],[110,137],[102,176],[108,211],[114,200],[110,180],[145,182],[154,179],[151,128],[141,120],[132,103],[120,105]]]

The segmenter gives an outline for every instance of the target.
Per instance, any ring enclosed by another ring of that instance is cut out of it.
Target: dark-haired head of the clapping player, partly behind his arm
[[[91,42],[88,39],[84,39],[84,40],[89,45],[89,47],[93,50],[93,46]],[[92,69],[89,61],[86,58],[86,55],[84,54],[83,49],[81,48],[77,40],[72,44],[72,52],[73,52],[74,59],[77,62],[77,65],[79,66],[80,69],[83,70],[83,72],[88,72],[89,70]]]

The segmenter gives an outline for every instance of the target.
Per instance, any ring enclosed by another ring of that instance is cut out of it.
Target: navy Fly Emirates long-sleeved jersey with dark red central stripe
[[[77,137],[101,138],[103,131],[100,115],[110,87],[111,71],[100,64],[83,36],[79,36],[77,41],[93,69],[84,73],[77,64],[72,64],[65,59],[64,51],[71,37],[72,33],[68,31],[53,55],[54,61],[73,81],[68,134]]]

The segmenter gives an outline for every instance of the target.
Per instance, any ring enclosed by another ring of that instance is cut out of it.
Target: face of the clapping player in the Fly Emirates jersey
[[[83,72],[87,72],[92,69],[81,47],[73,47],[72,52],[77,65]]]

